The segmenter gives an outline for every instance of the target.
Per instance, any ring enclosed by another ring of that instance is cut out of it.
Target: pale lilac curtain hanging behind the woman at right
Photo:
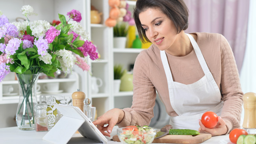
[[[189,9],[186,33],[221,33],[228,40],[241,70],[246,47],[250,0],[184,0]]]

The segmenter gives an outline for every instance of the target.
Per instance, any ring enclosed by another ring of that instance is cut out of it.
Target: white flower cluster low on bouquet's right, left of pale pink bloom
[[[76,61],[76,57],[72,55],[72,52],[65,49],[58,50],[56,54],[58,55],[56,59],[58,59],[61,65],[61,69],[65,71],[65,74],[69,74],[72,71],[73,65]]]

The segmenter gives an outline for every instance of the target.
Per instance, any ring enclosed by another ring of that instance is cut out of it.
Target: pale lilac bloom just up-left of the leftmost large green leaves
[[[16,53],[15,51],[19,49],[20,43],[21,40],[18,38],[13,38],[9,41],[5,49],[7,57]]]

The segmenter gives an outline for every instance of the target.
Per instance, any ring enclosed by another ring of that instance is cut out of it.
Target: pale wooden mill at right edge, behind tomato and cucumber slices
[[[249,134],[255,134],[256,133],[256,93],[247,92],[243,95],[243,107],[245,109],[243,128]]]

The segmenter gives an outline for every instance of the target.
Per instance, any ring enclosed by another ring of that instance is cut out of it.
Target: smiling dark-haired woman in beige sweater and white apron
[[[156,90],[174,129],[215,136],[239,128],[243,92],[223,35],[186,34],[188,11],[182,0],[137,0],[134,19],[140,38],[153,44],[136,58],[132,107],[109,110],[93,122],[98,129],[110,136],[115,124],[149,125]],[[218,124],[211,129],[200,120],[206,111],[218,115]]]

